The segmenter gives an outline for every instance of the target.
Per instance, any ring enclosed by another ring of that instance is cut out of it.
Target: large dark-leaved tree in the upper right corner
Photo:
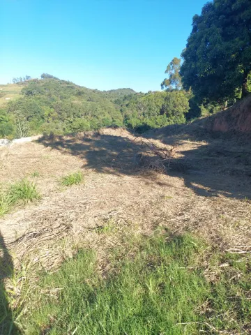
[[[201,100],[226,101],[248,94],[251,71],[251,1],[214,0],[192,20],[182,53],[181,76]]]

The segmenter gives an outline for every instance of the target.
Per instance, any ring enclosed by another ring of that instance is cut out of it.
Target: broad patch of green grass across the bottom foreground
[[[245,334],[250,260],[207,253],[188,235],[146,238],[123,260],[115,248],[114,270],[103,278],[95,253],[80,251],[59,271],[40,274],[32,308],[18,322],[32,335]],[[208,271],[217,279],[208,281]]]

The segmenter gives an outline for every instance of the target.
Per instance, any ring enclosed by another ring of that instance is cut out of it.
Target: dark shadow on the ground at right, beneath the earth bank
[[[250,135],[206,131],[204,120],[151,131],[146,138],[176,147],[168,174],[197,195],[251,199]]]

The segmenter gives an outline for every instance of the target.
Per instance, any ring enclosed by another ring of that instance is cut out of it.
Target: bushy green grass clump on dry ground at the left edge
[[[10,185],[6,191],[0,193],[0,216],[8,213],[15,204],[22,201],[25,204],[40,199],[40,194],[33,182],[22,179],[17,183]]]

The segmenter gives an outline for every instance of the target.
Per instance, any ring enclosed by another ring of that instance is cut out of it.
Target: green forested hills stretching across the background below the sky
[[[0,137],[61,135],[105,126],[145,131],[183,123],[189,110],[190,94],[182,90],[147,94],[128,88],[98,91],[44,75],[11,86],[22,89],[19,98],[10,98],[1,106]],[[4,89],[7,87],[3,93]]]

